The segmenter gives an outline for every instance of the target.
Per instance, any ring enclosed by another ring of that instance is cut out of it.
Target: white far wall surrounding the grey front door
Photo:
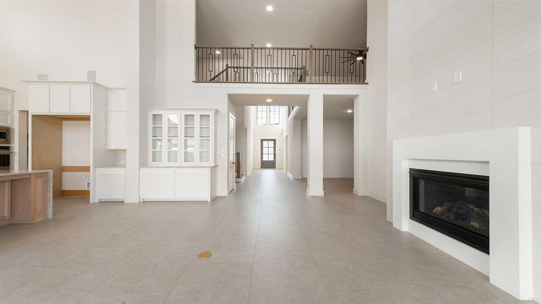
[[[254,117],[257,117],[257,108],[253,107]],[[253,168],[261,168],[261,140],[276,140],[276,169],[283,169],[283,107],[280,107],[280,124],[257,124],[254,120],[253,135]],[[267,112],[267,118],[269,114]]]

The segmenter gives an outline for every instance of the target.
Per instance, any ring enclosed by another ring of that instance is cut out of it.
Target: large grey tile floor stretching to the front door
[[[0,228],[0,303],[526,303],[352,185],[306,197],[267,169],[210,203],[57,199],[54,219]]]

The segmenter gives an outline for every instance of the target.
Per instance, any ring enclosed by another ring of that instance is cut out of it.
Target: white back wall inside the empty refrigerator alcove
[[[90,121],[62,122],[62,166],[90,166]],[[84,190],[89,172],[63,172],[62,190]]]

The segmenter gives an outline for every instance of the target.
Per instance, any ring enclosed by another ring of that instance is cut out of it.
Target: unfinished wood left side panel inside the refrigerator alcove
[[[32,169],[52,170],[52,196],[62,195],[62,118],[32,115]]]

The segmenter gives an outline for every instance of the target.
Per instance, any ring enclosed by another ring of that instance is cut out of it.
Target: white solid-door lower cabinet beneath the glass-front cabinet
[[[210,201],[211,168],[141,168],[142,200]]]

